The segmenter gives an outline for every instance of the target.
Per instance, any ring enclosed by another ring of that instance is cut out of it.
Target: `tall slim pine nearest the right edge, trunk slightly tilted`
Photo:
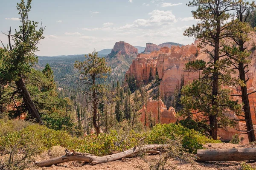
[[[229,28],[227,32],[232,33],[230,37],[234,40],[234,44],[225,45],[223,51],[228,54],[228,57],[230,57],[229,61],[233,65],[234,69],[239,71],[239,78],[236,81],[241,88],[241,95],[236,96],[241,97],[243,102],[243,121],[246,123],[246,132],[249,142],[255,142],[255,131],[250,112],[250,94],[247,92],[247,81],[249,78],[246,76],[246,73],[249,71],[248,65],[250,65],[249,56],[251,53],[246,47],[244,47],[244,44],[249,40],[248,34],[252,31],[250,26],[246,23],[249,15],[246,12],[249,11],[254,4],[249,4],[244,0],[239,0],[237,5],[237,20],[233,20],[227,24],[227,27]]]

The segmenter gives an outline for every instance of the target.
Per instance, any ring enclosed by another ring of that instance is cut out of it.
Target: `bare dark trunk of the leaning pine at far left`
[[[17,87],[21,90],[22,96],[23,96],[23,102],[25,103],[29,114],[32,116],[33,119],[35,119],[36,122],[38,122],[41,125],[44,125],[41,116],[37,110],[37,108],[35,107],[31,96],[29,94],[29,91],[26,88],[25,83],[23,82],[23,79],[20,78],[19,80],[17,80],[15,82],[15,84],[17,85]]]

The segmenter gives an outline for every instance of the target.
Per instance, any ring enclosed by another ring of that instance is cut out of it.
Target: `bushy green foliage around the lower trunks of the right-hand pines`
[[[212,99],[214,96],[212,96],[211,86],[209,84],[209,81],[200,79],[183,86],[181,91],[182,96],[180,98],[180,104],[183,105],[183,109],[181,109],[178,114],[184,118],[194,114],[196,117],[195,121],[198,122],[201,127],[204,127],[206,131],[211,133],[211,129],[208,126],[209,117],[211,115],[216,115],[219,118],[218,127],[233,126],[234,122],[228,119],[223,111],[230,109],[235,113],[239,113],[241,105],[239,105],[237,101],[230,99],[230,91],[228,89],[219,89],[219,95],[215,99],[217,107],[213,106]],[[201,115],[205,118],[200,119]],[[199,119],[197,119],[197,117]]]

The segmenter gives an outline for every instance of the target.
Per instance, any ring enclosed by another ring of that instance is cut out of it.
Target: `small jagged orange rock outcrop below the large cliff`
[[[146,125],[148,126],[150,122],[157,124],[158,122],[158,105],[160,113],[160,122],[161,123],[175,123],[177,121],[176,112],[173,107],[170,107],[167,110],[166,105],[160,99],[159,101],[152,100],[151,98],[147,101],[147,108],[143,105],[143,108],[139,111],[141,113],[140,121],[145,122],[146,115]],[[146,114],[145,114],[146,113]],[[151,118],[151,120],[150,120]]]

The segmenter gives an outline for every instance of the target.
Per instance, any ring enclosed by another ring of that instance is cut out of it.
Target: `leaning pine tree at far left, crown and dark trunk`
[[[39,30],[36,30],[38,23],[29,20],[29,12],[31,11],[31,1],[27,0],[27,3],[24,3],[24,0],[21,0],[17,4],[17,10],[20,15],[21,25],[19,29],[15,29],[15,34],[11,33],[11,28],[8,36],[9,44],[7,47],[4,46],[5,53],[5,63],[7,67],[4,70],[0,70],[1,79],[5,79],[6,82],[13,83],[17,86],[17,91],[23,96],[23,102],[26,105],[26,110],[31,115],[32,119],[35,119],[36,122],[43,125],[40,113],[36,108],[34,102],[31,99],[31,95],[26,88],[24,79],[25,75],[29,74],[35,62],[38,61],[38,58],[35,57],[35,51],[38,51],[37,44],[40,40],[44,39],[43,33],[44,28],[41,26]],[[14,42],[14,45],[11,44]]]

